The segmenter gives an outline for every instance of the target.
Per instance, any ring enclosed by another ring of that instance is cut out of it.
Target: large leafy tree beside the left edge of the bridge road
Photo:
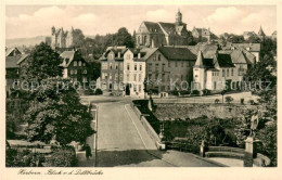
[[[94,131],[91,129],[91,114],[82,105],[75,87],[66,79],[42,80],[31,95],[30,106],[24,118],[29,141],[50,143],[56,140],[65,145],[72,141],[85,142]]]

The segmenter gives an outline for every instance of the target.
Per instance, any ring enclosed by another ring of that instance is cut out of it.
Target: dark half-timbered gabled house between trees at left
[[[60,54],[63,62],[63,78],[69,78],[80,86],[89,85],[92,79],[92,68],[90,64],[81,56],[79,51],[64,51]]]

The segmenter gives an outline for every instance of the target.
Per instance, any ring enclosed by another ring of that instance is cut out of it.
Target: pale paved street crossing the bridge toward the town
[[[99,167],[138,166],[216,166],[190,153],[159,152],[131,110],[131,99],[89,97],[99,106],[98,165]],[[94,166],[93,160],[85,166]]]

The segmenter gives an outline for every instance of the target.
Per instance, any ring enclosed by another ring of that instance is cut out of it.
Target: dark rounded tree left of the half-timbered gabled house
[[[48,44],[36,46],[21,68],[21,77],[27,81],[38,81],[49,77],[62,76],[60,55]]]

